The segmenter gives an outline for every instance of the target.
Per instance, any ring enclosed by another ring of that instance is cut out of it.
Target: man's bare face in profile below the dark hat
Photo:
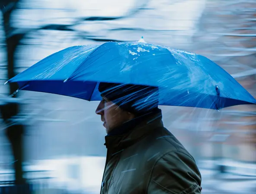
[[[101,121],[104,122],[103,126],[106,128],[107,133],[134,118],[133,114],[120,109],[115,103],[112,103],[105,97],[102,97],[96,109],[96,114],[101,116]]]

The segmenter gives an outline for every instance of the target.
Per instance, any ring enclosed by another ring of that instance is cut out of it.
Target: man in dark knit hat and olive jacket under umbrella
[[[158,88],[100,83],[106,128],[101,194],[201,194],[195,160],[163,127]]]

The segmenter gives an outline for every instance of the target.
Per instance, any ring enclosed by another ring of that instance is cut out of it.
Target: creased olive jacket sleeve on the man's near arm
[[[201,179],[191,156],[180,151],[171,151],[156,162],[147,193],[201,194]]]

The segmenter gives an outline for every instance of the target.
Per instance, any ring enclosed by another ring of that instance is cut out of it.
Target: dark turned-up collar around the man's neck
[[[160,127],[163,127],[162,113],[157,109],[113,129],[105,137],[106,148],[112,153],[122,151]]]

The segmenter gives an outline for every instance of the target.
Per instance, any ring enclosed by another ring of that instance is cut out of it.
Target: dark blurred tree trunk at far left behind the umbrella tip
[[[12,32],[14,28],[11,26],[11,13],[16,9],[16,4],[19,0],[3,0],[0,3],[0,9],[3,13],[3,27],[6,37],[6,54],[7,54],[7,70],[8,79],[15,76],[15,52],[19,45],[19,41],[22,38],[22,34],[13,35]],[[16,83],[9,83],[9,94],[13,94],[18,89]],[[12,97],[16,97],[16,94]],[[13,151],[14,162],[13,166],[15,169],[15,183],[24,184],[25,179],[23,179],[22,162],[23,162],[23,125],[15,124],[10,119],[19,113],[19,103],[5,103],[0,106],[0,111],[4,122],[8,126],[6,128],[6,135],[11,143],[11,148]]]

